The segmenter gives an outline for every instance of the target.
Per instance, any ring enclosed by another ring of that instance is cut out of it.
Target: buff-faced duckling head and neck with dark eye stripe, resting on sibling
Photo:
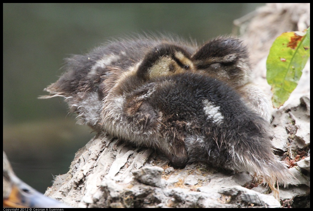
[[[109,95],[131,93],[136,87],[155,78],[194,71],[190,57],[187,50],[174,44],[161,43],[151,47],[141,61],[129,68],[129,71],[119,74]]]

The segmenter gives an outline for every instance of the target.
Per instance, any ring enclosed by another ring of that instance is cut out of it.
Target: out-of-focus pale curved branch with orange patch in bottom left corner
[[[21,181],[13,172],[3,151],[3,207],[14,208],[70,208],[48,198]]]

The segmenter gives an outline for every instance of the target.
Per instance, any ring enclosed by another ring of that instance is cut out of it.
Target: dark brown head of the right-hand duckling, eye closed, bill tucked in
[[[246,47],[238,39],[219,37],[200,47],[191,58],[197,70],[210,76],[244,85],[249,81],[249,67]]]

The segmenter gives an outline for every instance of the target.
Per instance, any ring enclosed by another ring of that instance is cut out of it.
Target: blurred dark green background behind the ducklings
[[[3,4],[3,149],[23,181],[43,192],[95,133],[75,124],[63,98],[37,99],[63,58],[116,37],[171,33],[199,44],[230,34],[262,3]]]

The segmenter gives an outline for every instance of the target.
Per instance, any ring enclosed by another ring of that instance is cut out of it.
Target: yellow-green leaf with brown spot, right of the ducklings
[[[275,108],[288,100],[302,75],[310,50],[302,47],[305,38],[301,32],[285,32],[276,38],[266,61],[266,79],[272,86]]]

